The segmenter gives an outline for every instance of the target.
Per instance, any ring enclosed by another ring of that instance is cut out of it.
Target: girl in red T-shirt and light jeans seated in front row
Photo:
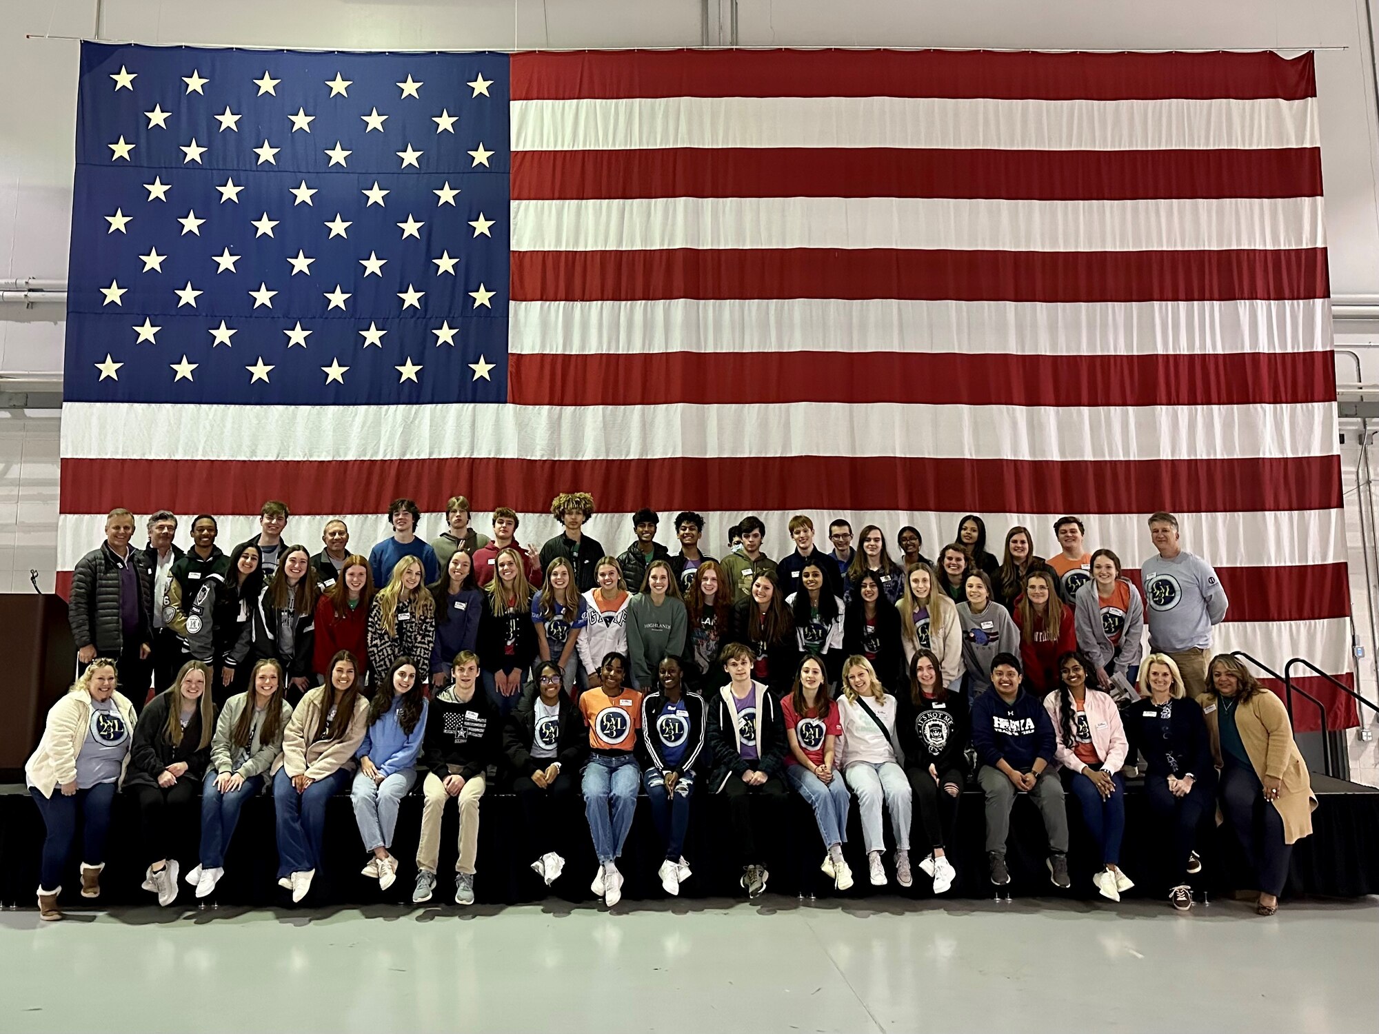
[[[816,656],[807,655],[796,669],[794,685],[781,700],[781,720],[789,744],[785,775],[814,811],[825,848],[821,869],[834,889],[851,889],[852,869],[843,859],[843,845],[848,840],[852,794],[833,764],[843,718]]]

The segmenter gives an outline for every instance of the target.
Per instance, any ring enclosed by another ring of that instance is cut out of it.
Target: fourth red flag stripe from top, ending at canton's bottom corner
[[[804,371],[811,371],[805,375]],[[1248,405],[1336,397],[1331,352],[1011,356],[914,352],[513,354],[523,405],[932,403]]]

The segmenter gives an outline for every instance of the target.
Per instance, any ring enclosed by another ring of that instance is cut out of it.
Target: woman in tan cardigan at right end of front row
[[[1255,911],[1273,915],[1292,845],[1311,835],[1311,776],[1282,700],[1230,653],[1212,658],[1208,677],[1212,688],[1198,703],[1220,767],[1220,811],[1258,882]]]

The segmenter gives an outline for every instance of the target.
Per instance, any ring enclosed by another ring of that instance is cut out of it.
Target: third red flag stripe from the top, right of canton
[[[1038,252],[665,248],[512,254],[516,302],[658,298],[1216,302],[1328,294],[1325,248]]]

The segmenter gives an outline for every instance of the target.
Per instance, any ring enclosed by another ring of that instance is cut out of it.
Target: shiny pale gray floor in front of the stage
[[[0,913],[0,1030],[1379,1030],[1379,899],[179,915]]]

